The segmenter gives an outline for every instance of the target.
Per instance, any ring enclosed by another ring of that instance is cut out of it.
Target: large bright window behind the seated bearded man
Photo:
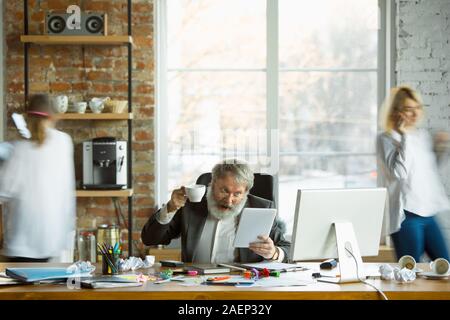
[[[165,0],[157,9],[160,203],[239,157],[275,176],[289,233],[297,189],[376,185],[377,0]]]

